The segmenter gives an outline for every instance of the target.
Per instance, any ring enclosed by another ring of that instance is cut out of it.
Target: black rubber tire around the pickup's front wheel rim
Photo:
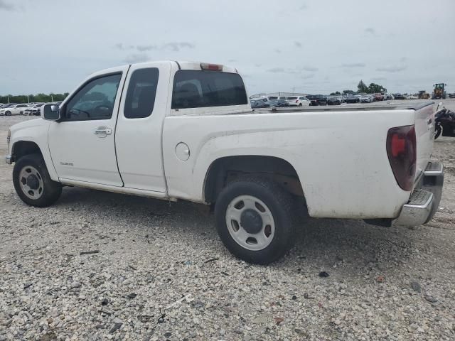
[[[28,197],[21,187],[22,179],[20,178],[20,174],[23,168],[26,168],[27,166],[35,168],[42,178],[43,188],[40,193],[41,196],[37,199]],[[13,183],[14,189],[21,200],[26,204],[35,207],[50,206],[57,201],[62,194],[62,185],[50,179],[48,168],[46,168],[43,156],[40,154],[22,156],[18,159],[18,161],[16,161],[13,169]]]

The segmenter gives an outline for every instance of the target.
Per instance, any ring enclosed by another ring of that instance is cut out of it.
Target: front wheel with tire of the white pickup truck
[[[31,206],[50,206],[62,194],[62,185],[50,179],[48,168],[40,154],[18,159],[14,164],[13,183],[21,200]]]

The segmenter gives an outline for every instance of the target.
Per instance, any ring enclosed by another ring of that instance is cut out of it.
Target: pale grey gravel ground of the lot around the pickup
[[[25,119],[0,117],[1,155]],[[65,188],[28,207],[1,161],[0,340],[455,340],[455,139],[434,156],[432,222],[310,220],[271,266],[233,258],[189,202]]]

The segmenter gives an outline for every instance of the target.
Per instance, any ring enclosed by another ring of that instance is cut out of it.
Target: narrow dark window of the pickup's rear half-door
[[[159,70],[156,67],[135,70],[129,80],[124,116],[127,119],[149,117],[154,111]]]

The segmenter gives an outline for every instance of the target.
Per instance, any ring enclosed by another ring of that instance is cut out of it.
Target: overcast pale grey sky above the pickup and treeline
[[[237,67],[250,94],[455,92],[455,1],[0,0],[0,94],[146,60]]]

